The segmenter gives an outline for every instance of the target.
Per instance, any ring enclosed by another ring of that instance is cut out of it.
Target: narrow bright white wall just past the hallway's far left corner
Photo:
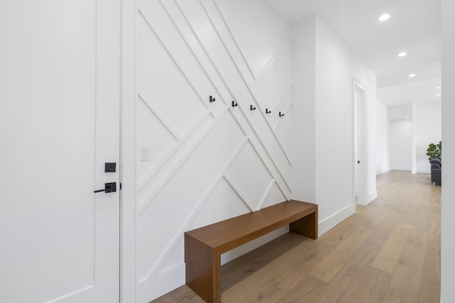
[[[389,165],[389,122],[387,106],[376,101],[376,174],[390,170]]]

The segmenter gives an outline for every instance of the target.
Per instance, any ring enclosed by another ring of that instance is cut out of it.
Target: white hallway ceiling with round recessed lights
[[[318,15],[378,76],[379,91],[429,79],[440,82],[441,0],[261,1],[291,24]],[[381,23],[378,17],[385,12],[392,17]],[[408,55],[398,57],[402,51]],[[411,73],[417,76],[408,77]],[[432,89],[429,95],[436,97]]]

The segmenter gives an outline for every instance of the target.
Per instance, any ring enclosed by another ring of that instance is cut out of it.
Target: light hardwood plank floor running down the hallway
[[[378,199],[318,240],[281,236],[222,267],[222,302],[439,302],[441,187],[377,178]],[[153,301],[203,302],[183,285]]]

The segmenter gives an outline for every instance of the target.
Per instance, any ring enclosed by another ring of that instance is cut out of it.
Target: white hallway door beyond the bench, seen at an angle
[[[354,82],[354,197],[360,205],[367,204],[366,186],[366,89]]]

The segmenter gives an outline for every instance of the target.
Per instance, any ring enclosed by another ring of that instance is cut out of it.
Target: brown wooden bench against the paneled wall
[[[220,255],[287,224],[293,233],[318,238],[318,206],[290,200],[187,231],[186,285],[205,302],[220,302]]]

